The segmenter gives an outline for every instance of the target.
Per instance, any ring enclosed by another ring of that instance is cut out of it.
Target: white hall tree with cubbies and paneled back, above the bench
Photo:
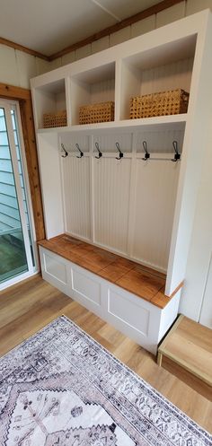
[[[66,232],[165,272],[167,295],[186,280],[212,122],[211,42],[206,10],[31,80],[47,238]],[[129,119],[132,96],[177,88],[190,92],[186,114]],[[80,126],[79,107],[101,101],[115,101],[114,121]],[[66,127],[42,127],[43,113],[63,109]]]

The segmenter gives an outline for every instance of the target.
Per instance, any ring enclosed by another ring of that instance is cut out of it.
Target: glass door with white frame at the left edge
[[[0,288],[34,270],[18,111],[0,100]]]

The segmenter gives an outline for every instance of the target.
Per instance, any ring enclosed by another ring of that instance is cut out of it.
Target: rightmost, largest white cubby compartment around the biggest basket
[[[190,92],[196,35],[126,57],[121,64],[120,119],[130,118],[130,99],[181,89]]]

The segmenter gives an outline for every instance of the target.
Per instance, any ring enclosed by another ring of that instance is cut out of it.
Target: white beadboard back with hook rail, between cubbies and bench
[[[183,134],[182,127],[169,127],[124,135],[62,135],[60,144],[68,151],[62,158],[66,232],[166,271],[181,165],[170,161],[172,141],[181,152]],[[144,140],[159,161],[142,160]],[[120,161],[118,142],[124,153]],[[77,143],[84,151],[81,159],[76,158]]]

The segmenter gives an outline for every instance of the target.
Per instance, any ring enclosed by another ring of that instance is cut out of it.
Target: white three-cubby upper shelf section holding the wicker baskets
[[[196,15],[203,18],[204,13]],[[183,19],[181,26],[174,22],[32,79],[37,129],[47,127],[43,125],[44,114],[60,111],[66,111],[67,121],[63,124],[66,128],[58,125],[57,130],[51,131],[98,131],[104,126],[136,129],[137,126],[163,124],[163,118],[172,124],[185,122],[184,110],[175,111],[174,116],[158,114],[154,118],[151,115],[150,118],[140,118],[138,115],[138,118],[130,119],[130,100],[155,92],[180,89],[190,92],[197,39],[203,28],[198,17],[192,16]],[[111,113],[108,119],[110,122],[100,119],[98,123],[82,125],[82,107],[109,101],[114,102],[115,107],[114,117]],[[177,113],[182,116],[178,118]]]

